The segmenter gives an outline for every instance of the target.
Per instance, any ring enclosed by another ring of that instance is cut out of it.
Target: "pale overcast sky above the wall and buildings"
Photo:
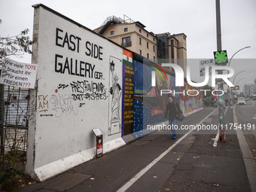
[[[249,64],[232,61],[236,77],[241,83],[253,83],[256,78],[256,1],[220,0],[222,50],[230,58],[242,47],[251,46],[236,53],[233,59],[254,59]],[[32,5],[42,3],[66,17],[96,29],[108,16],[123,18],[123,14],[143,23],[148,32],[170,32],[187,35],[187,58],[213,58],[216,43],[215,0],[166,0],[166,1],[84,1],[84,0],[0,0],[0,35],[17,35],[23,29],[32,37]],[[15,59],[15,58],[14,58]],[[30,62],[31,56],[16,59]],[[254,65],[253,65],[254,63]],[[198,72],[199,75],[199,72]]]

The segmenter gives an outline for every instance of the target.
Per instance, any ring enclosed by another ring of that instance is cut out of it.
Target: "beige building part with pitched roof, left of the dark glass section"
[[[94,31],[111,39],[117,44],[132,50],[139,55],[156,62],[157,38],[153,32],[148,32],[139,21],[122,20],[115,16],[108,17]]]

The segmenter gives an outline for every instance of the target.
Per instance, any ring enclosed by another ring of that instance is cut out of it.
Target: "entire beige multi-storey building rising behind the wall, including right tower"
[[[102,26],[94,31],[153,62],[176,63],[186,74],[187,36],[184,33],[154,34],[148,32],[139,21],[135,22],[126,16],[123,19],[108,17]]]

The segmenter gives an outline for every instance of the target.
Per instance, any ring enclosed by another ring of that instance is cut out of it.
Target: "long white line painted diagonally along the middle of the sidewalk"
[[[217,109],[215,109],[216,111]],[[206,118],[208,118],[211,114],[213,114],[215,111],[212,111],[212,113],[210,113],[207,117],[205,117],[203,120],[200,121],[201,124],[203,123],[204,120],[206,120]],[[196,129],[197,127],[195,127]],[[145,172],[148,172],[149,169],[151,169],[152,166],[154,166],[154,164],[156,164],[158,161],[160,161],[169,151],[172,150],[172,148],[174,148],[176,145],[178,145],[179,142],[181,142],[188,134],[190,134],[192,131],[194,130],[190,130],[189,132],[187,132],[184,136],[181,137],[181,139],[178,139],[177,142],[175,142],[171,147],[169,147],[166,151],[164,151],[162,154],[160,154],[160,156],[158,156],[156,159],[154,159],[151,163],[148,164],[148,166],[146,166],[144,169],[142,169],[139,173],[137,173],[137,175],[135,175],[133,178],[130,179],[130,181],[127,181],[126,184],[123,185],[123,187],[120,187],[119,190],[117,190],[117,192],[124,192],[127,189],[129,189],[139,178],[142,177],[142,175],[145,174]]]

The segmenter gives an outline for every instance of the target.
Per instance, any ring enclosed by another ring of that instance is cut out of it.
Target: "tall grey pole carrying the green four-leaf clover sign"
[[[217,29],[217,51],[221,52],[221,8],[220,0],[216,0],[216,29]],[[218,75],[222,75],[223,71],[219,70]],[[223,84],[218,85],[218,90],[223,90]],[[218,109],[219,109],[219,123],[220,123],[220,142],[226,141],[225,136],[225,114],[224,114],[224,104],[220,102],[220,97],[218,98]]]

